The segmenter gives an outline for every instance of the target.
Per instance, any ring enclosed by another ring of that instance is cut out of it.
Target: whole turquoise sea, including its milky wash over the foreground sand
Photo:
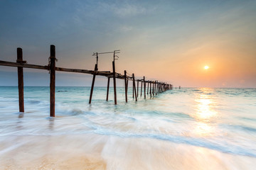
[[[139,91],[140,92],[140,91]],[[0,87],[0,169],[255,169],[256,89]]]

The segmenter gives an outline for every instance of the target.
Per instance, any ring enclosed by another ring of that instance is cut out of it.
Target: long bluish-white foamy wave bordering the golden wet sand
[[[53,118],[48,118],[53,119]],[[85,134],[97,134],[97,135],[110,135],[116,137],[123,138],[148,138],[155,140],[164,140],[169,142],[174,142],[176,144],[184,144],[191,145],[195,147],[205,147],[208,149],[213,149],[218,152],[223,152],[227,154],[238,154],[248,157],[256,157],[256,149],[250,147],[241,147],[238,145],[230,144],[229,142],[222,142],[220,140],[207,140],[205,138],[196,138],[196,137],[185,137],[181,135],[166,135],[160,133],[152,133],[152,132],[119,132],[117,130],[112,130],[109,128],[102,128],[101,126],[92,124],[88,125],[90,129],[88,130],[78,130],[78,131],[66,131],[65,128],[58,131],[44,130],[44,132],[37,132],[33,130],[33,132],[6,132],[1,133],[0,136],[50,136],[50,135],[85,135]]]

